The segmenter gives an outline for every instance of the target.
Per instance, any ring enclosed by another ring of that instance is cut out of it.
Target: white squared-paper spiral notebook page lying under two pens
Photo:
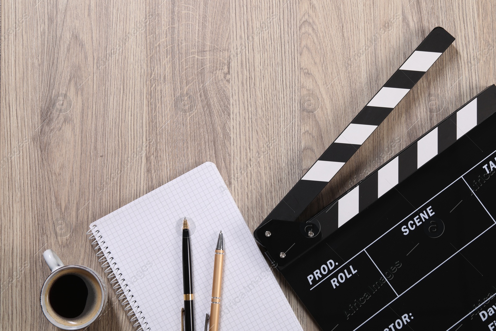
[[[90,224],[100,261],[142,330],[181,330],[182,220],[191,231],[195,327],[210,313],[214,250],[224,235],[219,330],[302,328],[215,164],[206,162]]]

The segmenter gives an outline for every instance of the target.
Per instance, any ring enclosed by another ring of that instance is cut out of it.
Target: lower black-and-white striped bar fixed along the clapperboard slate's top
[[[326,207],[326,227],[342,226],[494,113],[496,86],[491,85]]]

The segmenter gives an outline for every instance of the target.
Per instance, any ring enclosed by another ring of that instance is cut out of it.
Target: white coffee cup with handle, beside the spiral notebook
[[[62,330],[79,330],[93,323],[107,304],[107,287],[92,269],[63,265],[52,250],[43,253],[52,270],[41,289],[45,317]]]

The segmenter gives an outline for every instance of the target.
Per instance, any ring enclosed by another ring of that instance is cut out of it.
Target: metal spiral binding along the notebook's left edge
[[[129,311],[127,316],[131,322],[135,322],[133,327],[139,328],[136,331],[150,331],[148,327],[148,322],[146,322],[143,312],[139,310],[139,305],[130,289],[126,289],[128,285],[125,283],[123,274],[119,272],[119,266],[116,262],[112,262],[114,257],[112,257],[112,252],[109,251],[109,247],[105,245],[105,240],[103,236],[99,235],[100,230],[98,230],[96,224],[93,224],[91,228],[86,232],[89,240],[93,240],[91,245],[95,246],[95,251],[98,250],[96,256],[99,262],[103,262],[102,268],[104,272],[108,273],[107,278],[110,279],[110,284],[113,285],[113,289],[116,290],[116,294],[119,296],[118,299],[121,302],[121,306],[124,306],[124,311]]]

